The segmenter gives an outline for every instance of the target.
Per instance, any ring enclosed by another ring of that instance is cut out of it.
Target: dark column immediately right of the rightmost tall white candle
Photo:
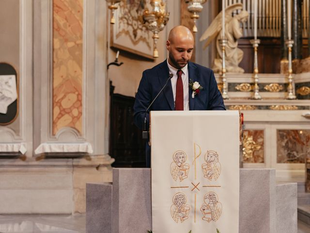
[[[293,0],[293,53],[292,59],[302,59],[302,0]]]

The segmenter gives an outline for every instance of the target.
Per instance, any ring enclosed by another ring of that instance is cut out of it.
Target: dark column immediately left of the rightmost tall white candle
[[[281,0],[281,60],[287,60],[287,0]]]

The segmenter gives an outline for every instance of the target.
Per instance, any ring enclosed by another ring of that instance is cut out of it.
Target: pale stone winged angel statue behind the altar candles
[[[225,67],[227,72],[244,73],[244,69],[238,66],[243,58],[243,51],[238,48],[237,41],[242,36],[240,23],[244,23],[248,19],[248,12],[242,10],[242,8],[242,3],[235,3],[225,9],[225,39],[227,39]],[[239,14],[232,16],[235,10],[241,11]],[[222,12],[217,15],[207,30],[202,34],[200,41],[207,39],[203,49],[208,47],[215,37],[217,37],[217,53],[220,58],[214,60],[214,66],[212,68],[214,72],[218,73],[222,70],[222,48],[219,44],[219,39],[222,39]]]

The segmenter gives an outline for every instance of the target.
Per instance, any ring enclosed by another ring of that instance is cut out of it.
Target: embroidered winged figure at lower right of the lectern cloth
[[[222,213],[222,203],[218,201],[217,194],[209,192],[203,197],[204,203],[200,208],[202,212],[202,220],[211,222],[217,221]]]

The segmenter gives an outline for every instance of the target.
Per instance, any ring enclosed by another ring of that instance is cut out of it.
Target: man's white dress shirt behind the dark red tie
[[[172,67],[167,59],[167,64],[169,67],[169,72],[171,74],[173,74],[173,77],[171,78],[171,85],[172,85],[172,92],[173,92],[173,102],[174,102],[174,106],[175,106],[175,95],[176,95],[176,81],[178,79],[178,75],[177,75],[177,68]],[[188,99],[188,70],[187,70],[187,64],[185,67],[183,67],[181,69],[183,71],[182,73],[182,82],[183,82],[183,96],[184,96],[184,110],[188,111],[189,110],[189,99]]]

